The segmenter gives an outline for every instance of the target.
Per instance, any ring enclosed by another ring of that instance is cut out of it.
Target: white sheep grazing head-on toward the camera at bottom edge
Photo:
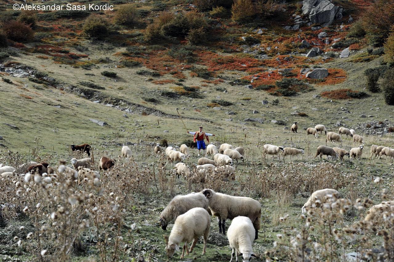
[[[254,240],[254,228],[250,218],[246,216],[237,216],[231,222],[229,230],[227,230],[227,238],[232,249],[231,259],[235,256],[242,256],[242,261],[247,262],[254,256],[252,244]]]

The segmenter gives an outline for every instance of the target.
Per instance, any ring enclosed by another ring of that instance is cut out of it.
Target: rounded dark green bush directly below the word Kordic
[[[86,18],[82,32],[88,39],[103,39],[110,32],[110,24],[104,17],[91,14]]]

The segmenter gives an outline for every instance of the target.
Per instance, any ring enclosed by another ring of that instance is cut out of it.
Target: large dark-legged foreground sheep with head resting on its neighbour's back
[[[258,201],[250,197],[229,196],[216,193],[214,190],[206,188],[202,191],[209,201],[209,208],[213,216],[217,216],[219,222],[219,233],[226,233],[225,222],[237,216],[250,218],[255,228],[255,239],[261,224],[261,205]]]

